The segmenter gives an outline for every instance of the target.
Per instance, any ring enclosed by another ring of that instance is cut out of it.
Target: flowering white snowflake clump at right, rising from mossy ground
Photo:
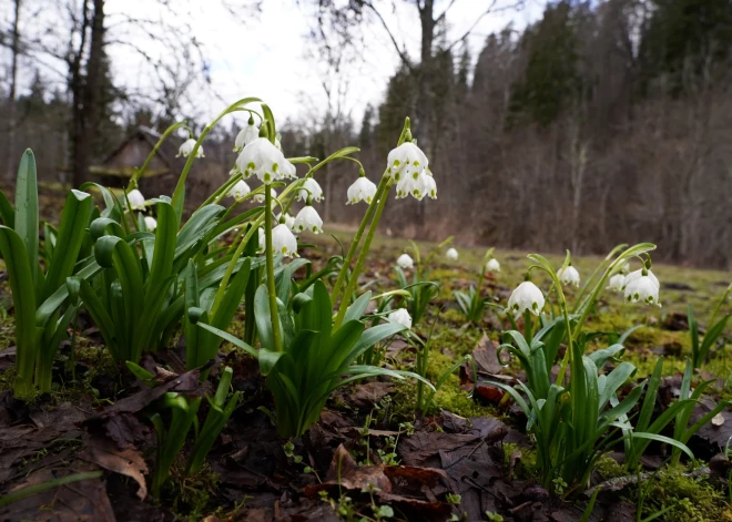
[[[631,290],[627,300],[658,304],[658,279],[654,283],[649,276],[651,258],[648,253],[654,248],[648,243],[616,248],[580,289],[571,309],[561,280],[562,275],[567,284],[575,284],[577,279],[573,274],[567,276],[567,268],[571,266],[569,253],[559,270],[542,256],[532,254],[529,258],[533,264],[526,280],[508,300],[506,313],[511,316],[514,330],[504,334],[498,357],[501,364],[508,364],[506,355],[510,354],[519,361],[527,377],[526,382],[519,382],[516,387],[500,382],[495,385],[510,393],[526,412],[529,419],[527,430],[533,433],[537,441],[537,465],[542,487],[566,484],[562,492],[558,491],[560,494],[583,489],[597,459],[623,440],[637,441],[636,444],[627,444],[627,448],[634,448],[636,461],[639,448],[648,446],[638,441],[663,442],[675,451],[691,456],[684,446],[688,439],[661,436],[660,424],[644,422],[639,424],[640,429],[634,429],[629,421],[629,412],[638,403],[645,382],[636,386],[624,397],[619,395],[620,388],[636,372],[633,365],[620,359],[626,336],[608,348],[587,352],[589,339],[597,341],[601,338],[601,335],[584,331],[587,318],[600,293],[622,270],[628,259],[639,258],[643,268],[638,276],[633,276],[634,280],[641,282],[637,284],[639,286],[631,286],[632,282],[628,284]],[[547,295],[530,280],[530,274],[535,270],[550,277],[552,284]],[[599,278],[598,274],[601,274]],[[549,299],[552,290],[557,296],[555,303]],[[628,295],[629,290],[626,291]],[[523,319],[522,332],[516,323],[519,318]],[[567,349],[557,361],[562,344]],[[614,368],[606,370],[611,361]],[[559,371],[552,379],[555,362],[559,364]]]

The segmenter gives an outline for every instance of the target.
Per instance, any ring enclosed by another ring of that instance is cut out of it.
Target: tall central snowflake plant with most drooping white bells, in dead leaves
[[[282,259],[297,256],[297,238],[284,218],[289,205],[295,198],[305,202],[292,224],[295,232],[321,232],[323,222],[313,204],[323,198],[323,192],[313,175],[326,163],[338,158],[356,162],[360,173],[363,166],[350,157],[357,149],[344,149],[322,162],[311,157],[288,160],[276,146],[276,141],[274,117],[268,110],[264,110],[260,135],[243,147],[236,161],[238,172],[232,176],[228,184],[234,185],[241,177],[256,175],[264,187],[262,212],[251,222],[252,226],[235,247],[231,262],[235,263],[243,254],[250,237],[263,226],[265,274],[263,284],[256,289],[253,307],[261,347],[255,349],[205,321],[200,321],[199,326],[258,359],[260,369],[266,376],[267,387],[275,398],[274,418],[277,431],[282,437],[297,437],[319,419],[321,410],[333,390],[348,382],[375,376],[396,379],[410,377],[434,389],[416,373],[356,364],[367,349],[406,330],[407,326],[388,321],[367,329],[365,313],[372,295],[355,295],[358,275],[363,270],[392,187],[399,184],[399,180],[405,176],[416,175],[419,180],[420,176],[429,176],[433,183],[434,180],[431,173],[428,173],[427,158],[411,143],[407,120],[376,191],[372,194],[367,186],[360,186],[358,193],[349,190],[350,203],[362,199],[368,202],[368,207],[343,259],[333,288],[328,290],[319,278],[298,286],[292,280],[294,269],[282,273],[302,260],[282,266]],[[415,151],[419,151],[419,154],[415,154]],[[307,166],[308,171],[304,177],[297,177],[296,172],[293,172],[291,166],[296,164]],[[419,184],[409,186],[409,193],[421,199],[424,194],[419,192],[420,188],[433,186],[433,183],[421,180]],[[360,182],[360,185],[365,185],[364,182]],[[274,187],[281,191],[276,197],[273,194]],[[224,190],[228,191],[228,186]],[[174,196],[173,202],[175,201]],[[281,207],[279,214],[283,216],[277,219],[279,223],[275,223],[274,216],[277,207]],[[358,257],[355,255],[357,250]],[[279,274],[275,273],[275,257],[281,268]],[[227,278],[224,277],[222,288],[226,284]],[[200,314],[192,316],[200,317]]]

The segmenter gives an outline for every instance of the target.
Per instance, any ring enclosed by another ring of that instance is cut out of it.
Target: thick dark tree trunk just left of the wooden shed
[[[101,65],[104,54],[104,0],[93,0],[93,11],[89,13],[89,0],[84,2],[82,39],[79,52],[71,64],[72,110],[72,168],[73,185],[89,181],[92,140],[98,127],[98,104],[101,80]],[[87,28],[90,28],[89,55],[85,71],[82,61],[85,48]]]

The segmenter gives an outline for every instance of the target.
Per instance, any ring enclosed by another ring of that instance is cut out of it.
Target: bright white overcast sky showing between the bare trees
[[[53,0],[35,0],[53,1]],[[492,0],[454,0],[448,20],[448,41],[464,34],[476,19],[487,9]],[[501,6],[498,0],[498,7]],[[505,0],[510,1],[510,0]],[[488,34],[501,30],[509,22],[517,29],[526,25],[540,14],[542,0],[527,0],[523,9],[505,10],[482,18],[468,39],[472,60],[477,58]],[[9,20],[10,2],[2,2],[3,18]],[[32,9],[33,0],[28,2]],[[230,0],[232,3],[232,0]],[[175,0],[172,6],[185,4],[183,17],[189,20],[195,37],[202,42],[211,65],[213,89],[221,98],[210,94],[194,94],[195,110],[204,119],[211,119],[224,108],[224,102],[233,102],[247,95],[256,95],[266,100],[277,119],[302,120],[308,113],[323,110],[325,98],[322,88],[324,66],[312,55],[313,47],[307,34],[314,23],[312,0],[264,0],[262,12],[248,17],[242,10],[240,16],[232,16],[220,0]],[[436,12],[441,12],[449,0],[437,0]],[[380,12],[392,32],[400,44],[405,45],[411,57],[418,55],[419,18],[416,7],[406,0],[377,0]],[[504,3],[502,6],[506,6]],[[126,17],[151,17],[155,2],[151,0],[108,0],[105,11],[109,20],[119,20],[120,14]],[[48,12],[48,11],[47,11]],[[190,13],[190,18],[189,14]],[[161,11],[169,20],[170,14]],[[43,17],[43,11],[33,10],[32,17]],[[24,29],[31,13],[27,14]],[[38,21],[31,21],[37,27]],[[7,27],[7,25],[6,25]],[[118,30],[119,31],[119,30]],[[396,71],[399,59],[395,52],[387,32],[380,25],[373,23],[364,28],[367,48],[363,60],[344,72],[349,78],[349,89],[345,100],[346,112],[359,120],[367,103],[378,103],[389,76]],[[111,34],[135,41],[134,34]],[[60,32],[63,38],[63,31]],[[148,45],[146,51],[155,50],[146,43],[144,37],[139,37],[140,43]],[[126,45],[110,45],[113,74],[118,84],[138,91],[151,89],[151,81],[145,78],[140,66],[140,55]],[[160,50],[161,52],[162,49]],[[64,66],[48,61],[47,75],[59,84],[63,81]],[[28,82],[28,79],[26,79]]]

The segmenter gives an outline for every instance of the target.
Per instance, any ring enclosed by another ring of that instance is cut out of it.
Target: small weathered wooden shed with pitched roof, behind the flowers
[[[141,167],[155,147],[160,134],[146,126],[139,126],[120,146],[90,172],[104,186],[124,188],[136,168]],[[184,157],[176,157],[177,144],[172,136],[163,142],[139,181],[145,197],[171,195],[185,165]]]

